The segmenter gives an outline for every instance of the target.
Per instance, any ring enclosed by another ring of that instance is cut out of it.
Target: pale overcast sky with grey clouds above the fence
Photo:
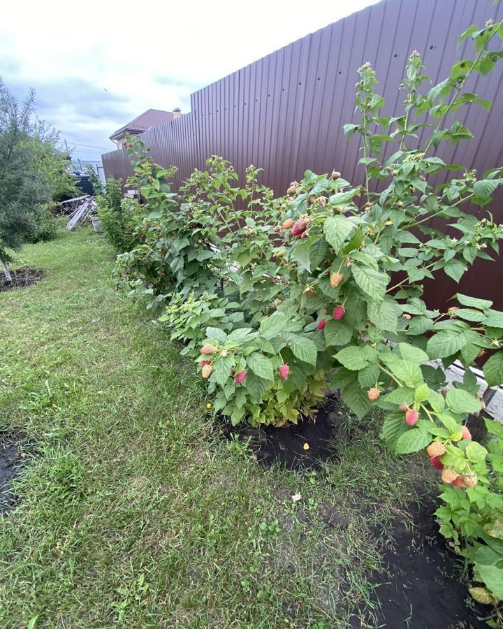
[[[190,110],[190,94],[377,0],[25,0],[1,8],[0,75],[100,159],[145,109]]]

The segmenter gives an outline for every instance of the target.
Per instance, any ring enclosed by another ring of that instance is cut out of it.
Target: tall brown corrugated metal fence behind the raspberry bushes
[[[342,133],[342,125],[353,122],[356,69],[372,64],[386,100],[382,114],[394,115],[402,108],[398,85],[412,50],[421,52],[428,75],[437,82],[465,50],[472,52],[470,43],[458,45],[459,34],[470,24],[502,17],[503,5],[492,0],[383,0],[191,94],[191,113],[143,133],[143,140],[156,161],[177,166],[175,187],[212,154],[230,160],[240,175],[249,164],[263,168],[261,182],[277,194],[307,168],[316,173],[337,168],[357,185],[362,182],[358,140],[348,141]],[[458,111],[457,120],[474,139],[443,147],[440,157],[478,173],[502,164],[502,80],[501,66],[490,80],[472,80],[469,89],[493,101],[493,108],[490,113],[477,107]],[[107,177],[131,175],[123,150],[102,159]],[[500,192],[489,207],[498,221],[503,220],[502,201]],[[473,212],[483,214],[477,208]],[[495,263],[478,261],[460,287],[444,277],[426,282],[432,306],[444,305],[460,290],[493,298],[503,308],[503,256]]]

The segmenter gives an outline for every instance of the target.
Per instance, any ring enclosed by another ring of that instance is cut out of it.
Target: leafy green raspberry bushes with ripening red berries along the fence
[[[484,209],[502,168],[479,175],[435,155],[442,143],[472,137],[455,119],[462,108],[490,107],[467,85],[502,57],[503,26],[472,26],[466,38],[472,58],[429,89],[420,55],[411,54],[404,111],[393,117],[381,115],[370,65],[359,68],[359,118],[344,130],[359,137],[363,185],[337,171],[306,171],[275,198],[258,185],[256,168],[241,187],[231,164],[212,157],[173,193],[172,171],[130,138],[131,183],[145,209],[138,245],[118,257],[117,277],[150,306],[166,305],[161,321],[234,424],[296,422],[316,412],[328,386],[359,418],[383,410],[386,447],[424,451],[438,470],[442,533],[472,563],[472,595],[495,605],[497,623],[502,429],[487,421],[483,445],[466,423],[483,410],[470,370],[483,354],[488,384],[503,383],[503,313],[462,293],[439,312],[423,291],[425,278],[460,282],[476,259],[498,252],[503,236]],[[445,170],[448,182],[435,186]],[[444,370],[456,360],[465,377],[448,390]]]

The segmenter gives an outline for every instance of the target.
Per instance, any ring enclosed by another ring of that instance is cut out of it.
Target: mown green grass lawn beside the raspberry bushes
[[[259,467],[115,291],[113,259],[65,233],[18,256],[42,282],[0,294],[0,429],[26,435],[27,461],[0,530],[1,627],[348,626],[423,464],[370,421],[323,473]]]

